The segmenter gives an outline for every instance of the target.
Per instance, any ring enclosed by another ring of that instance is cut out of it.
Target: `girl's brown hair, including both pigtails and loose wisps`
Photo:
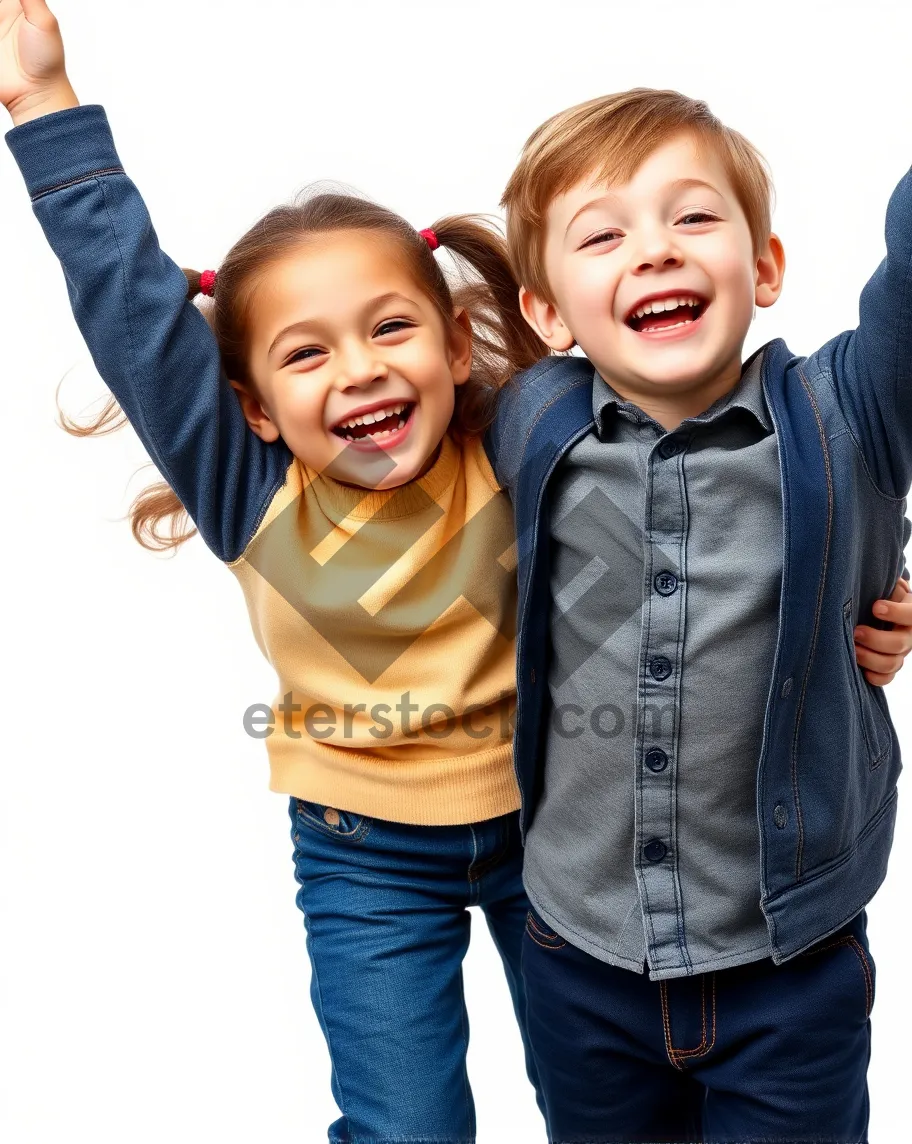
[[[522,316],[520,287],[501,232],[473,215],[451,215],[430,229],[452,256],[457,275],[452,288],[428,241],[399,215],[367,199],[319,193],[270,210],[231,247],[219,269],[213,296],[201,295],[198,303],[215,335],[228,378],[253,391],[247,363],[252,302],[277,262],[300,252],[312,235],[342,230],[382,235],[394,240],[415,283],[439,311],[447,333],[457,333],[454,312],[460,308],[467,311],[473,327],[473,367],[469,380],[457,387],[451,431],[460,438],[483,432],[493,420],[500,387],[549,350]],[[196,299],[200,275],[187,269],[184,275],[187,296]],[[72,421],[57,407],[62,427],[78,437],[113,432],[126,423],[114,397],[87,424]],[[174,490],[164,482],[144,488],[128,515],[135,539],[152,550],[176,548],[197,531]],[[164,524],[167,527],[162,530]]]

